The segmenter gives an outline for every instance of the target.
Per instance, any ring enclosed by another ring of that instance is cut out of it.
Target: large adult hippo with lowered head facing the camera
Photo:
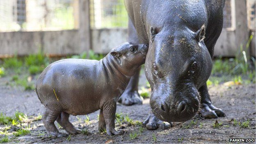
[[[191,119],[199,108],[205,118],[225,116],[211,103],[206,86],[224,0],[125,0],[125,5],[129,41],[149,44],[145,73],[152,89],[151,114],[143,125],[166,129],[171,121]],[[123,104],[140,103],[137,78],[138,72],[120,98]]]

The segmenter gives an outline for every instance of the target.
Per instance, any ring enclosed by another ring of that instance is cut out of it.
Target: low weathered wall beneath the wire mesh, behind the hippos
[[[52,55],[79,54],[78,30],[46,31],[46,32],[1,32],[1,55],[27,55],[37,53],[40,48],[44,53]],[[126,42],[127,29],[93,29],[91,30],[91,49],[95,53],[109,53],[112,48]],[[235,42],[235,31],[223,29],[215,45],[215,56],[233,57],[240,49]],[[255,36],[251,42],[251,55],[255,56]]]

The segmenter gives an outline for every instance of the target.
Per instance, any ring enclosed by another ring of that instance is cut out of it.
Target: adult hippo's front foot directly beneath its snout
[[[143,127],[146,127],[148,130],[156,130],[158,128],[162,130],[166,130],[170,127],[173,127],[173,123],[168,123],[165,121],[161,121],[156,118],[154,114],[149,114],[149,117],[142,123]]]

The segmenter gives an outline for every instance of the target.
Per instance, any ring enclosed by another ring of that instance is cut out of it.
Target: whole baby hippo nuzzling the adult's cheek
[[[108,135],[121,135],[115,129],[117,100],[130,77],[144,64],[148,46],[123,43],[101,60],[62,59],[50,64],[36,82],[36,92],[46,107],[43,123],[50,135],[59,133],[54,121],[68,133],[81,130],[69,121],[69,115],[84,115],[100,109],[98,129]]]

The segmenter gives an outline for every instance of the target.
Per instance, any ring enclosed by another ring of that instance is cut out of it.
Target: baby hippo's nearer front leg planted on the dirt
[[[116,130],[115,128],[115,114],[117,109],[117,103],[105,103],[103,106],[103,116],[106,123],[107,135],[122,135],[124,130]]]

